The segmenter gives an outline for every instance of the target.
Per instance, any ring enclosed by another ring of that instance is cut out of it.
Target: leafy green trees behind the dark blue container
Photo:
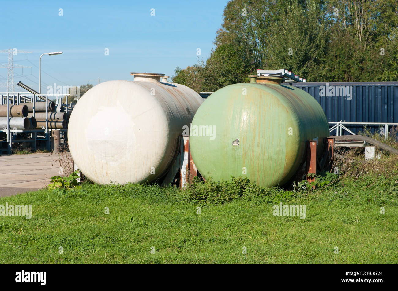
[[[230,0],[210,57],[173,82],[213,92],[257,69],[307,82],[397,81],[397,0]]]

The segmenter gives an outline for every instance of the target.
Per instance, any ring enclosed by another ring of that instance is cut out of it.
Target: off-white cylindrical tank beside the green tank
[[[203,99],[186,86],[160,82],[164,74],[131,73],[87,91],[68,124],[70,153],[90,180],[151,182],[170,168],[183,126]]]

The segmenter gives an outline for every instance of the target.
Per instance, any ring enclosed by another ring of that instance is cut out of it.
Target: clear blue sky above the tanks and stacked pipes
[[[17,48],[14,82],[39,91],[47,85],[82,85],[97,79],[133,79],[130,72],[174,73],[197,62],[197,48],[206,60],[222,23],[227,0],[162,1],[1,1],[0,50]],[[154,8],[154,16],[151,9]],[[62,9],[62,16],[59,15]],[[105,48],[109,55],[105,55]],[[0,54],[0,64],[8,62]],[[0,68],[0,83],[7,69]],[[0,87],[6,91],[6,87]],[[23,91],[17,87],[15,91]]]

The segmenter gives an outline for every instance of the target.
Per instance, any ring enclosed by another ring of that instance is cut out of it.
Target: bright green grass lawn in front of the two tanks
[[[275,201],[254,200],[197,214],[178,189],[145,185],[4,197],[0,204],[31,204],[33,216],[0,216],[0,263],[396,263],[395,180],[345,177],[281,198],[306,204],[305,219],[273,216]]]

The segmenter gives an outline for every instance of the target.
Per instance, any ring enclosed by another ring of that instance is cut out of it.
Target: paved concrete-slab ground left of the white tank
[[[0,156],[0,197],[41,189],[50,178],[60,175],[60,160],[69,154],[10,154]],[[62,163],[62,167],[65,164]]]

